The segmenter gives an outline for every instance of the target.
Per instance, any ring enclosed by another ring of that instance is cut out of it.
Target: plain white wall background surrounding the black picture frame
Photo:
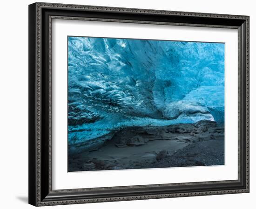
[[[47,1],[47,0],[45,0]],[[55,208],[252,208],[256,197],[256,13],[252,0],[50,0],[56,3],[110,7],[134,7],[174,11],[225,13],[250,16],[250,193],[182,197],[127,202],[104,202]],[[32,208],[27,203],[28,187],[28,4],[33,0],[1,2],[0,12],[0,207]],[[251,205],[251,206],[250,206]]]

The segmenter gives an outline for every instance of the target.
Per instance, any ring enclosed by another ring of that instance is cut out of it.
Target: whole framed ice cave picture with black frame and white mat
[[[29,5],[29,203],[249,192],[249,16]]]

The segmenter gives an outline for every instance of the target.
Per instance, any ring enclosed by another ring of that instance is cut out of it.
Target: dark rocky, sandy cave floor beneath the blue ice
[[[99,149],[69,158],[68,171],[148,169],[224,164],[224,129],[214,123],[179,128],[127,128]]]

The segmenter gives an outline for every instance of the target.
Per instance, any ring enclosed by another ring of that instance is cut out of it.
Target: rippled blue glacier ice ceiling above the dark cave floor
[[[127,126],[224,123],[224,44],[68,37],[68,140]]]

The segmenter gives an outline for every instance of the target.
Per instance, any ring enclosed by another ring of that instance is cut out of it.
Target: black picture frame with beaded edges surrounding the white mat
[[[238,29],[238,179],[197,183],[52,190],[51,20],[96,20]],[[249,16],[29,5],[29,203],[35,206],[249,192]]]

